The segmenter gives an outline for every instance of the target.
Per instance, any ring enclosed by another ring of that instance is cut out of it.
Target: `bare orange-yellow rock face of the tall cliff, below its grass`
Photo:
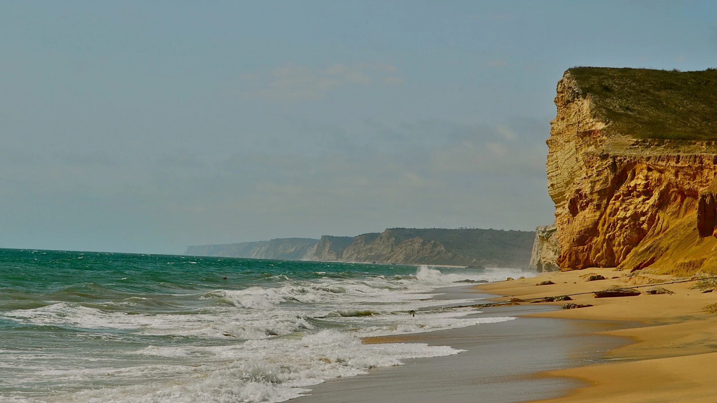
[[[715,143],[612,133],[583,94],[566,72],[547,141],[557,265],[717,272]]]

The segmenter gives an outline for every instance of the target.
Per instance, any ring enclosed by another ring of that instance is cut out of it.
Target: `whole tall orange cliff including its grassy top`
[[[555,104],[560,269],[717,272],[717,70],[576,67]]]

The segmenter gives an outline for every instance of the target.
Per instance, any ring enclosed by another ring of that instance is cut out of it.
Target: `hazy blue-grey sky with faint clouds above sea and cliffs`
[[[713,1],[3,1],[0,247],[553,221],[573,66],[717,67]]]

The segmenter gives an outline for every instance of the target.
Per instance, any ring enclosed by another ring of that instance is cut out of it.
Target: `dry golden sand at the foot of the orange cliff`
[[[586,281],[582,278],[591,273],[603,275],[609,280]],[[611,268],[591,268],[548,272],[526,280],[481,284],[473,288],[527,299],[585,293],[612,285],[630,287],[685,280],[666,275],[640,273],[628,277],[628,274]],[[618,278],[612,278],[616,276]],[[556,284],[535,285],[544,280]],[[632,297],[594,298],[592,294],[575,295],[574,300],[569,302],[594,306],[531,314],[536,318],[622,321],[627,328],[599,333],[632,340],[632,343],[607,351],[607,363],[537,374],[538,378],[573,379],[584,386],[574,387],[564,397],[542,398],[531,402],[715,402],[717,385],[713,382],[712,374],[717,369],[714,364],[717,359],[717,316],[706,313],[704,308],[717,303],[717,293],[702,293],[701,290],[690,288],[695,283],[690,280],[660,285],[673,294],[647,295],[644,293],[646,288],[639,288],[643,293]]]

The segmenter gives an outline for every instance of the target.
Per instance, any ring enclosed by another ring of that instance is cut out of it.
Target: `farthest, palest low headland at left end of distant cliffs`
[[[317,244],[318,240],[311,238],[276,238],[238,244],[190,246],[186,248],[184,255],[308,260],[313,256]]]

